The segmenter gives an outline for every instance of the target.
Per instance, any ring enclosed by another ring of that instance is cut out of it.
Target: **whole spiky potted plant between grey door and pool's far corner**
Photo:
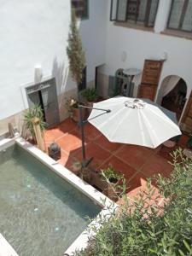
[[[32,120],[37,118],[39,120],[38,125],[40,126],[40,130],[43,132],[46,123],[44,122],[44,113],[42,111],[41,106],[34,105],[32,108],[29,108],[26,113],[24,113],[24,130],[26,131],[26,135],[23,135],[26,138],[30,138],[33,143],[37,143],[37,138],[35,136],[35,131],[33,129],[33,122]],[[22,132],[23,133],[23,132]]]

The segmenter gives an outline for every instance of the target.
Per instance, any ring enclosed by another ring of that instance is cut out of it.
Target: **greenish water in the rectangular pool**
[[[0,233],[20,256],[61,256],[101,210],[19,146],[0,152]]]

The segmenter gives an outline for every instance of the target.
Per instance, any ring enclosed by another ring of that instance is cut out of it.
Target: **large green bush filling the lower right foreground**
[[[118,216],[99,219],[102,227],[76,256],[192,255],[192,161],[180,150],[173,157],[171,179],[156,177],[161,195],[155,196],[148,181],[148,193],[135,201],[125,197]],[[163,207],[160,196],[165,198]]]

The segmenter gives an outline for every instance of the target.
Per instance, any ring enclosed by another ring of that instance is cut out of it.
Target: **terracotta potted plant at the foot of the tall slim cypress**
[[[83,105],[83,103],[80,102]],[[79,122],[79,102],[76,99],[68,99],[66,102],[66,108],[69,113],[69,116],[73,121]],[[86,109],[82,108],[82,118],[86,117]]]

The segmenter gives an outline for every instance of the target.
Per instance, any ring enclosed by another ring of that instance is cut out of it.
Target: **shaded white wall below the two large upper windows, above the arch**
[[[165,7],[165,1],[167,0],[160,0],[161,7]],[[108,12],[109,9],[110,1],[108,1]],[[162,13],[162,9],[159,8],[158,12]],[[165,25],[166,17],[160,13],[157,15],[158,24],[155,24],[157,31]],[[160,17],[162,26],[160,26]],[[192,40],[167,36],[158,32],[114,26],[113,22],[109,21],[109,17],[107,29],[107,64],[102,70],[103,73],[114,75],[118,68],[143,69],[145,59],[160,59],[162,53],[166,52],[168,58],[162,69],[160,83],[168,75],[180,76],[188,85],[189,96],[192,89]],[[121,61],[123,51],[127,53],[125,61]]]

